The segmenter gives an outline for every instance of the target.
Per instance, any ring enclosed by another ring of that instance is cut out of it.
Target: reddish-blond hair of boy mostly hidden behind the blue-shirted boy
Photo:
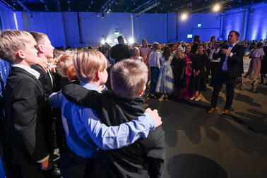
[[[61,76],[67,77],[67,69],[73,64],[73,56],[75,53],[76,52],[73,51],[66,51],[59,57],[59,61],[57,61],[57,70]]]

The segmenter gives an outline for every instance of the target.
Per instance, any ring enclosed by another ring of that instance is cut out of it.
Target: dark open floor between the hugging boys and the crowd
[[[246,69],[247,64],[245,60]],[[146,101],[148,107],[158,109],[163,121],[164,177],[266,178],[267,85],[252,86],[249,79],[244,81],[235,90],[228,116],[220,114],[225,104],[225,87],[216,112],[206,113],[211,91],[208,88],[198,102]]]

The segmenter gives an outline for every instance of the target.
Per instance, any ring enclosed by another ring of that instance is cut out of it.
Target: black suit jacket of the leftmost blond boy
[[[6,119],[17,159],[36,162],[49,154],[41,114],[44,103],[40,81],[24,69],[12,67],[6,81]]]

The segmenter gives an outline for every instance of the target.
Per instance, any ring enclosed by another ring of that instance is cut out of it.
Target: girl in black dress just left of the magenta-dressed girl
[[[183,90],[186,88],[186,80],[184,78],[186,61],[184,59],[184,52],[179,47],[176,49],[171,66],[173,68],[174,86],[177,90],[177,97],[178,99],[182,99]]]

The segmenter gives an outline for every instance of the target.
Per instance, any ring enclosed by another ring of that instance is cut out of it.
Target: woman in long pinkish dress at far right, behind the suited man
[[[263,49],[263,43],[259,42],[256,45],[256,48],[252,49],[249,58],[251,58],[251,61],[249,63],[249,70],[247,71],[246,76],[244,78],[247,78],[249,76],[249,79],[253,81],[251,84],[256,85],[257,78],[259,78],[259,74],[261,73],[261,60],[263,59],[264,52]]]

